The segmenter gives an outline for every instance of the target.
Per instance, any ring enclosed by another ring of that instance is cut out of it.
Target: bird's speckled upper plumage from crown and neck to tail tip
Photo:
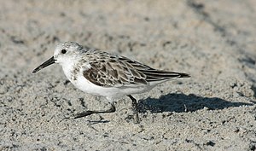
[[[84,78],[93,84],[103,87],[122,87],[147,85],[151,82],[160,83],[171,78],[189,76],[186,73],[156,70],[125,56],[113,55],[97,49],[83,49],[82,46],[73,42],[64,43],[62,47],[68,49],[72,45],[78,46],[77,54],[79,55],[71,71],[73,80],[77,79],[79,72],[83,72]],[[84,66],[85,64],[90,64],[90,68]]]

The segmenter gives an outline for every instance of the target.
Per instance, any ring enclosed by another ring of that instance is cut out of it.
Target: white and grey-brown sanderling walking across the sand
[[[89,49],[75,42],[58,44],[54,56],[32,71],[53,63],[59,63],[67,78],[79,90],[96,96],[104,96],[111,107],[102,111],[85,111],[75,119],[93,113],[113,113],[113,100],[122,96],[130,97],[135,123],[139,122],[137,100],[131,94],[151,90],[155,85],[174,78],[189,78],[187,73],[167,72],[148,67],[125,56],[113,55],[97,49]]]

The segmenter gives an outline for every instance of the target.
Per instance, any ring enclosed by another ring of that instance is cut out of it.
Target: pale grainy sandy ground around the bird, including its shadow
[[[255,150],[256,1],[1,1],[0,150]],[[190,73],[117,112],[67,119],[108,102],[61,67],[32,69],[55,45],[129,56]]]

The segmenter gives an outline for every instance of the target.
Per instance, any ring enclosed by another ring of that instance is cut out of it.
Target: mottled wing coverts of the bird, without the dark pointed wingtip
[[[100,86],[124,86],[128,84],[148,84],[146,76],[137,72],[131,63],[118,56],[108,56],[90,61],[90,69],[84,71],[84,77]]]

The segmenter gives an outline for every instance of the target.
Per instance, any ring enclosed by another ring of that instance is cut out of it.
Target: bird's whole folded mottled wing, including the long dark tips
[[[90,61],[90,69],[84,71],[84,77],[93,84],[119,87],[189,76],[186,73],[156,70],[124,56],[106,55]]]

